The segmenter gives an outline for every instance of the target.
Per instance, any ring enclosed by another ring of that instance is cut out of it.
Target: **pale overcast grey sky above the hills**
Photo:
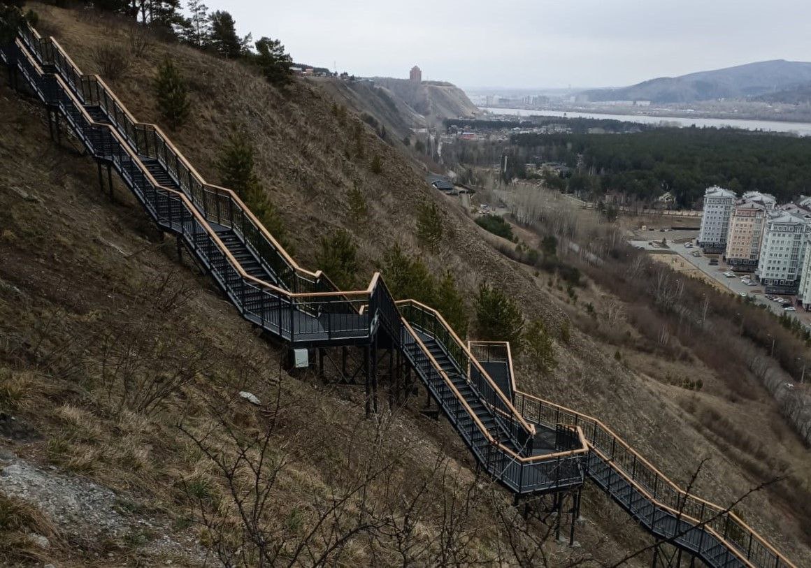
[[[811,60],[795,0],[229,0],[239,32],[295,61],[461,87],[603,87],[766,59]]]

